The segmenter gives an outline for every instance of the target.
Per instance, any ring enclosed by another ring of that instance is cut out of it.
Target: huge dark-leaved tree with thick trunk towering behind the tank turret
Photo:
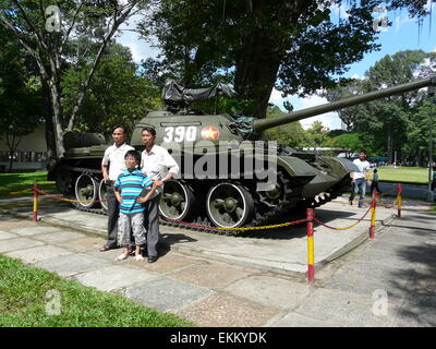
[[[335,24],[334,3],[342,1],[155,0],[141,31],[157,37],[164,59],[147,68],[171,68],[191,87],[230,81],[242,99],[255,101],[252,116],[265,118],[272,87],[300,96],[332,87],[334,74],[377,49],[377,5],[405,8],[419,19],[427,14],[425,1],[355,0],[347,1],[349,17]]]

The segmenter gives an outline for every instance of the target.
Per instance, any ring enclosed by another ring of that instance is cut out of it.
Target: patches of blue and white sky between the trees
[[[432,0],[427,0],[427,5],[431,7]],[[339,17],[346,17],[346,8],[331,8],[331,20],[334,23],[338,23]],[[392,26],[384,27],[380,21],[382,16],[386,15],[388,21],[392,23]],[[401,50],[424,50],[426,52],[436,52],[436,2],[433,3],[433,11],[431,17],[426,17],[423,25],[420,27],[416,24],[416,20],[409,19],[408,12],[392,11],[392,12],[374,12],[373,17],[375,24],[379,29],[378,39],[376,44],[380,44],[380,50],[368,52],[364,56],[360,62],[351,64],[349,71],[343,74],[343,77],[362,79],[365,71],[370,67],[374,65],[378,60],[384,58],[386,55],[395,55]],[[133,29],[137,19],[133,17],[130,24],[123,25],[122,29]],[[144,40],[140,40],[137,34],[130,31],[123,31],[121,36],[117,39],[120,44],[129,46],[132,51],[133,60],[140,62],[142,59],[148,57],[156,57],[157,50],[153,49]],[[313,95],[305,98],[296,96],[288,96],[287,98],[281,97],[281,93],[274,89],[269,101],[277,105],[283,111],[283,101],[288,100],[294,106],[294,110],[314,107],[317,105],[328,103],[327,99],[319,96]],[[320,121],[323,124],[330,130],[340,129],[341,120],[336,112],[329,112],[322,116],[313,117],[306,120],[300,121],[303,129],[308,129],[314,121]]]

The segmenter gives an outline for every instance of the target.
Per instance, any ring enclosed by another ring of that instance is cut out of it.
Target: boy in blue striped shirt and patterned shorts
[[[131,244],[130,231],[133,230],[136,250],[135,260],[144,261],[141,255],[141,245],[145,243],[144,210],[148,198],[153,196],[157,185],[143,171],[137,169],[141,163],[141,155],[136,151],[129,151],[124,156],[125,167],[113,184],[114,193],[120,203],[120,218],[118,219],[118,231],[121,234],[123,253],[117,257],[122,261],[129,257],[129,246]],[[152,189],[144,197],[138,197],[144,188]]]

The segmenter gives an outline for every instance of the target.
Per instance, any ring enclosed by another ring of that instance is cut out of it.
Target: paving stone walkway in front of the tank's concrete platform
[[[403,212],[377,239],[304,279],[161,251],[116,262],[102,237],[0,216],[0,253],[199,326],[435,326],[436,216]]]

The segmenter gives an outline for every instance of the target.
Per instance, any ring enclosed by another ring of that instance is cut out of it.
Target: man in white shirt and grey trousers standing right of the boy
[[[155,144],[156,130],[145,127],[142,131],[145,149],[141,155],[141,169],[157,184],[158,195],[148,201],[147,254],[148,263],[157,261],[157,242],[159,241],[159,200],[165,182],[179,172],[179,165],[168,151]],[[147,218],[147,217],[146,217]],[[147,219],[145,219],[147,221]]]

